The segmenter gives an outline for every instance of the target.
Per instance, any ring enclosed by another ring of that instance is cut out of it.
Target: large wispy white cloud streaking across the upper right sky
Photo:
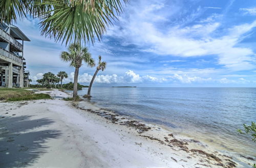
[[[178,57],[213,55],[212,57],[218,57],[219,65],[232,71],[256,68],[253,50],[239,46],[246,35],[256,27],[256,21],[225,28],[216,20],[221,15],[213,14],[206,20],[201,20],[200,24],[183,26],[184,24],[169,23],[172,15],[166,16],[161,12],[169,9],[167,5],[162,5],[160,11],[160,7],[150,10],[147,8],[145,4],[130,6],[132,12],[125,13],[120,18],[120,24],[111,27],[108,35],[122,39],[123,45],[140,46],[145,52]],[[185,20],[189,22],[188,20],[194,20],[201,14],[202,10],[198,8],[191,13],[190,19]],[[165,19],[150,19],[156,15]],[[166,19],[168,21],[165,22]]]

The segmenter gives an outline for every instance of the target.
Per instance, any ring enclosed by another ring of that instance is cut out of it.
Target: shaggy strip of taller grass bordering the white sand
[[[24,95],[19,97],[8,98],[7,101],[39,100],[39,99],[51,99],[51,96],[45,93],[30,94],[30,95]]]

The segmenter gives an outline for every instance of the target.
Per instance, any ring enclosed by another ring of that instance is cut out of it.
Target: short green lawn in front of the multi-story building
[[[33,91],[18,88],[0,88],[0,100],[17,98],[33,94]]]

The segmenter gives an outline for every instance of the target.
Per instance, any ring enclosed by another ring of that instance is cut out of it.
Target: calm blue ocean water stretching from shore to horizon
[[[80,96],[87,94],[84,88]],[[256,88],[92,88],[97,106],[214,145],[256,156],[252,136],[237,133],[256,122]]]

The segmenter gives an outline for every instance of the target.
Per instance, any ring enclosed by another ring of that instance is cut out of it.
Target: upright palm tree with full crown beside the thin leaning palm
[[[82,61],[86,62],[89,67],[94,67],[95,63],[91,57],[91,53],[87,47],[82,47],[79,43],[72,43],[68,47],[67,51],[62,51],[60,54],[61,60],[70,62],[70,66],[75,67],[74,76],[74,89],[73,98],[77,98],[77,80],[79,68],[82,66]]]

